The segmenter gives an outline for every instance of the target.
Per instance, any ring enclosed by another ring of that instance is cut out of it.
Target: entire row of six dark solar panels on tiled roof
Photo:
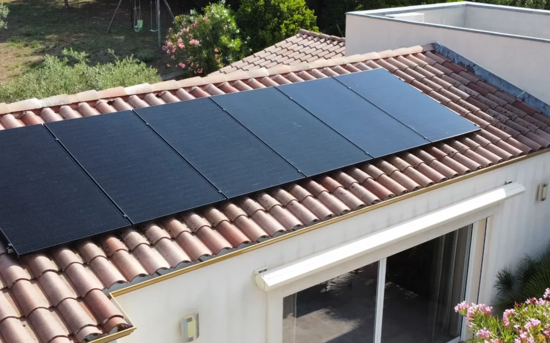
[[[17,252],[479,130],[384,70],[0,131]]]

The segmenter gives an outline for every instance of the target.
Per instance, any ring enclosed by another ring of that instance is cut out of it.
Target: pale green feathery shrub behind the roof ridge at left
[[[0,86],[0,102],[11,103],[28,98],[46,98],[57,94],[73,94],[90,89],[133,86],[161,81],[154,68],[132,57],[119,59],[112,50],[114,63],[89,65],[85,52],[63,50],[63,59],[46,55],[43,63],[19,76],[17,81]],[[69,58],[75,60],[70,63]]]

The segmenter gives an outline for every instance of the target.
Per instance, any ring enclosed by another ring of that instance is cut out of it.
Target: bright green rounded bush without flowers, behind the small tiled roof
[[[298,30],[318,31],[317,17],[305,0],[242,0],[237,23],[250,37],[253,52],[295,35]],[[248,39],[248,38],[247,38]]]

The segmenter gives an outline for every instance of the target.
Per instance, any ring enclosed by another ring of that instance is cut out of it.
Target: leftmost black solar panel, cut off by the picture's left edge
[[[0,131],[0,229],[17,254],[129,226],[42,125]]]

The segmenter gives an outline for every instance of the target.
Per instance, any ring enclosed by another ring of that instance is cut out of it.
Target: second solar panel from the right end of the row
[[[374,158],[430,143],[332,77],[277,88]]]

